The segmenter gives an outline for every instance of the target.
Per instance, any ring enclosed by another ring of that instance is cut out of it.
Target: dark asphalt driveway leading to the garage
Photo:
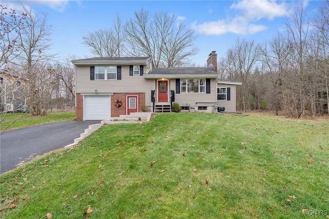
[[[100,121],[68,121],[43,124],[0,135],[0,173],[14,169],[52,150],[74,143],[74,139]]]

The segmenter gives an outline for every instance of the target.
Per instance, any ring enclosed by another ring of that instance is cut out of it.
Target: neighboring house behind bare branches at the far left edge
[[[0,111],[28,111],[27,80],[5,71],[0,72]]]

